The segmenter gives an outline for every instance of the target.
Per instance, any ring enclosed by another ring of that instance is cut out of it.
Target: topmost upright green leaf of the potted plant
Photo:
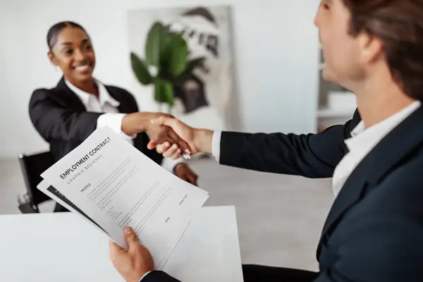
[[[160,54],[166,46],[168,32],[166,27],[159,22],[155,22],[147,35],[145,44],[146,62],[150,65],[159,67]]]

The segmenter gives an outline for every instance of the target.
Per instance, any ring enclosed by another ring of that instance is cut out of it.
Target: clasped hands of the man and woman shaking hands
[[[171,159],[181,156],[190,159],[198,152],[212,154],[212,130],[191,128],[168,114],[157,115],[160,116],[152,118],[147,129],[150,137],[148,149],[156,149],[163,157]]]

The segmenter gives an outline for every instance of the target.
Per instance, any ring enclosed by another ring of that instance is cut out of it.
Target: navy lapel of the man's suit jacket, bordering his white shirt
[[[420,106],[386,135],[351,173],[324,223],[318,255],[322,239],[332,233],[343,214],[364,197],[369,187],[375,187],[402,159],[423,145],[422,121],[423,106]]]

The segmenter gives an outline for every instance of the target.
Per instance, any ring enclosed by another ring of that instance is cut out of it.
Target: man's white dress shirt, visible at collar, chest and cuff
[[[370,151],[386,136],[390,133],[397,125],[405,120],[410,114],[416,111],[421,102],[415,101],[410,106],[399,111],[398,113],[386,118],[384,121],[377,123],[369,128],[365,128],[364,121],[361,121],[351,131],[351,137],[345,140],[349,152],[336,166],[333,172],[332,188],[333,194],[338,196],[338,193],[343,188],[345,181],[353,173],[354,169],[360,164],[362,159],[369,154]],[[221,143],[221,131],[214,131],[212,140],[212,154],[214,158],[219,161],[220,157],[220,143]]]

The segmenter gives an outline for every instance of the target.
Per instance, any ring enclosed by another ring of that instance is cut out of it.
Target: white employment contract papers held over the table
[[[42,190],[128,247],[132,227],[163,269],[181,236],[209,197],[181,180],[114,133],[99,128],[42,173]]]

